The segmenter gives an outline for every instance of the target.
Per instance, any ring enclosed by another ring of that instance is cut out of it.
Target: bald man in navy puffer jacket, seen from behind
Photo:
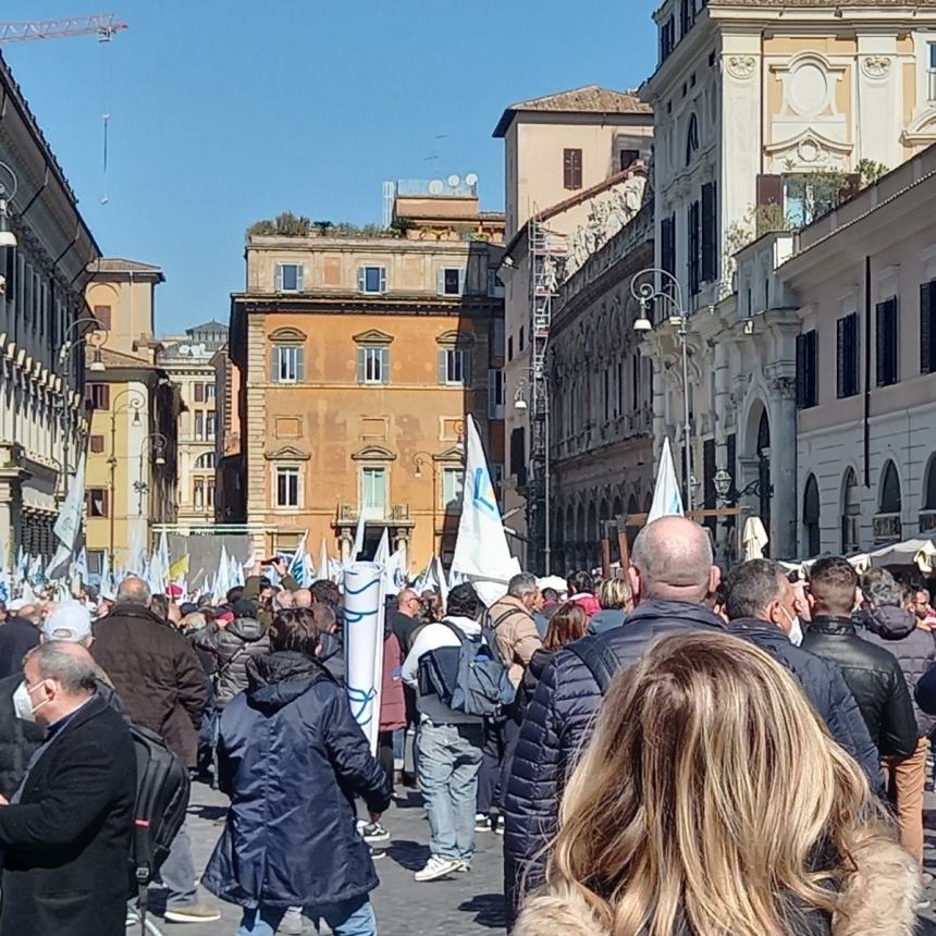
[[[520,728],[504,804],[509,916],[522,894],[542,883],[561,790],[614,674],[636,664],[660,637],[725,631],[725,621],[702,605],[721,580],[703,527],[683,517],[654,520],[637,537],[631,563],[628,574],[637,607],[627,623],[556,653]]]

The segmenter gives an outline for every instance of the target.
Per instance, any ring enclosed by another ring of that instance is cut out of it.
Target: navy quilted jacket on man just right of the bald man
[[[838,666],[824,656],[816,656],[790,643],[786,633],[764,620],[732,620],[728,625],[728,633],[749,640],[789,669],[833,738],[858,761],[872,788],[882,790],[880,755]]]

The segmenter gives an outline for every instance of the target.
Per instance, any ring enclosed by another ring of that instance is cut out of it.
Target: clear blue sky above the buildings
[[[7,0],[2,20],[98,8],[130,30],[4,54],[103,251],[164,269],[161,334],[227,320],[259,218],[378,222],[384,180],[468,172],[502,209],[503,109],[636,86],[656,48],[646,0]]]

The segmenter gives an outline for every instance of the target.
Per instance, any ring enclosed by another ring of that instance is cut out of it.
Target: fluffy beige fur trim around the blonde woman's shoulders
[[[920,870],[896,842],[879,842],[854,853],[858,870],[845,883],[842,912],[832,923],[832,936],[912,936]],[[612,936],[584,900],[553,895],[530,897],[513,936]]]

